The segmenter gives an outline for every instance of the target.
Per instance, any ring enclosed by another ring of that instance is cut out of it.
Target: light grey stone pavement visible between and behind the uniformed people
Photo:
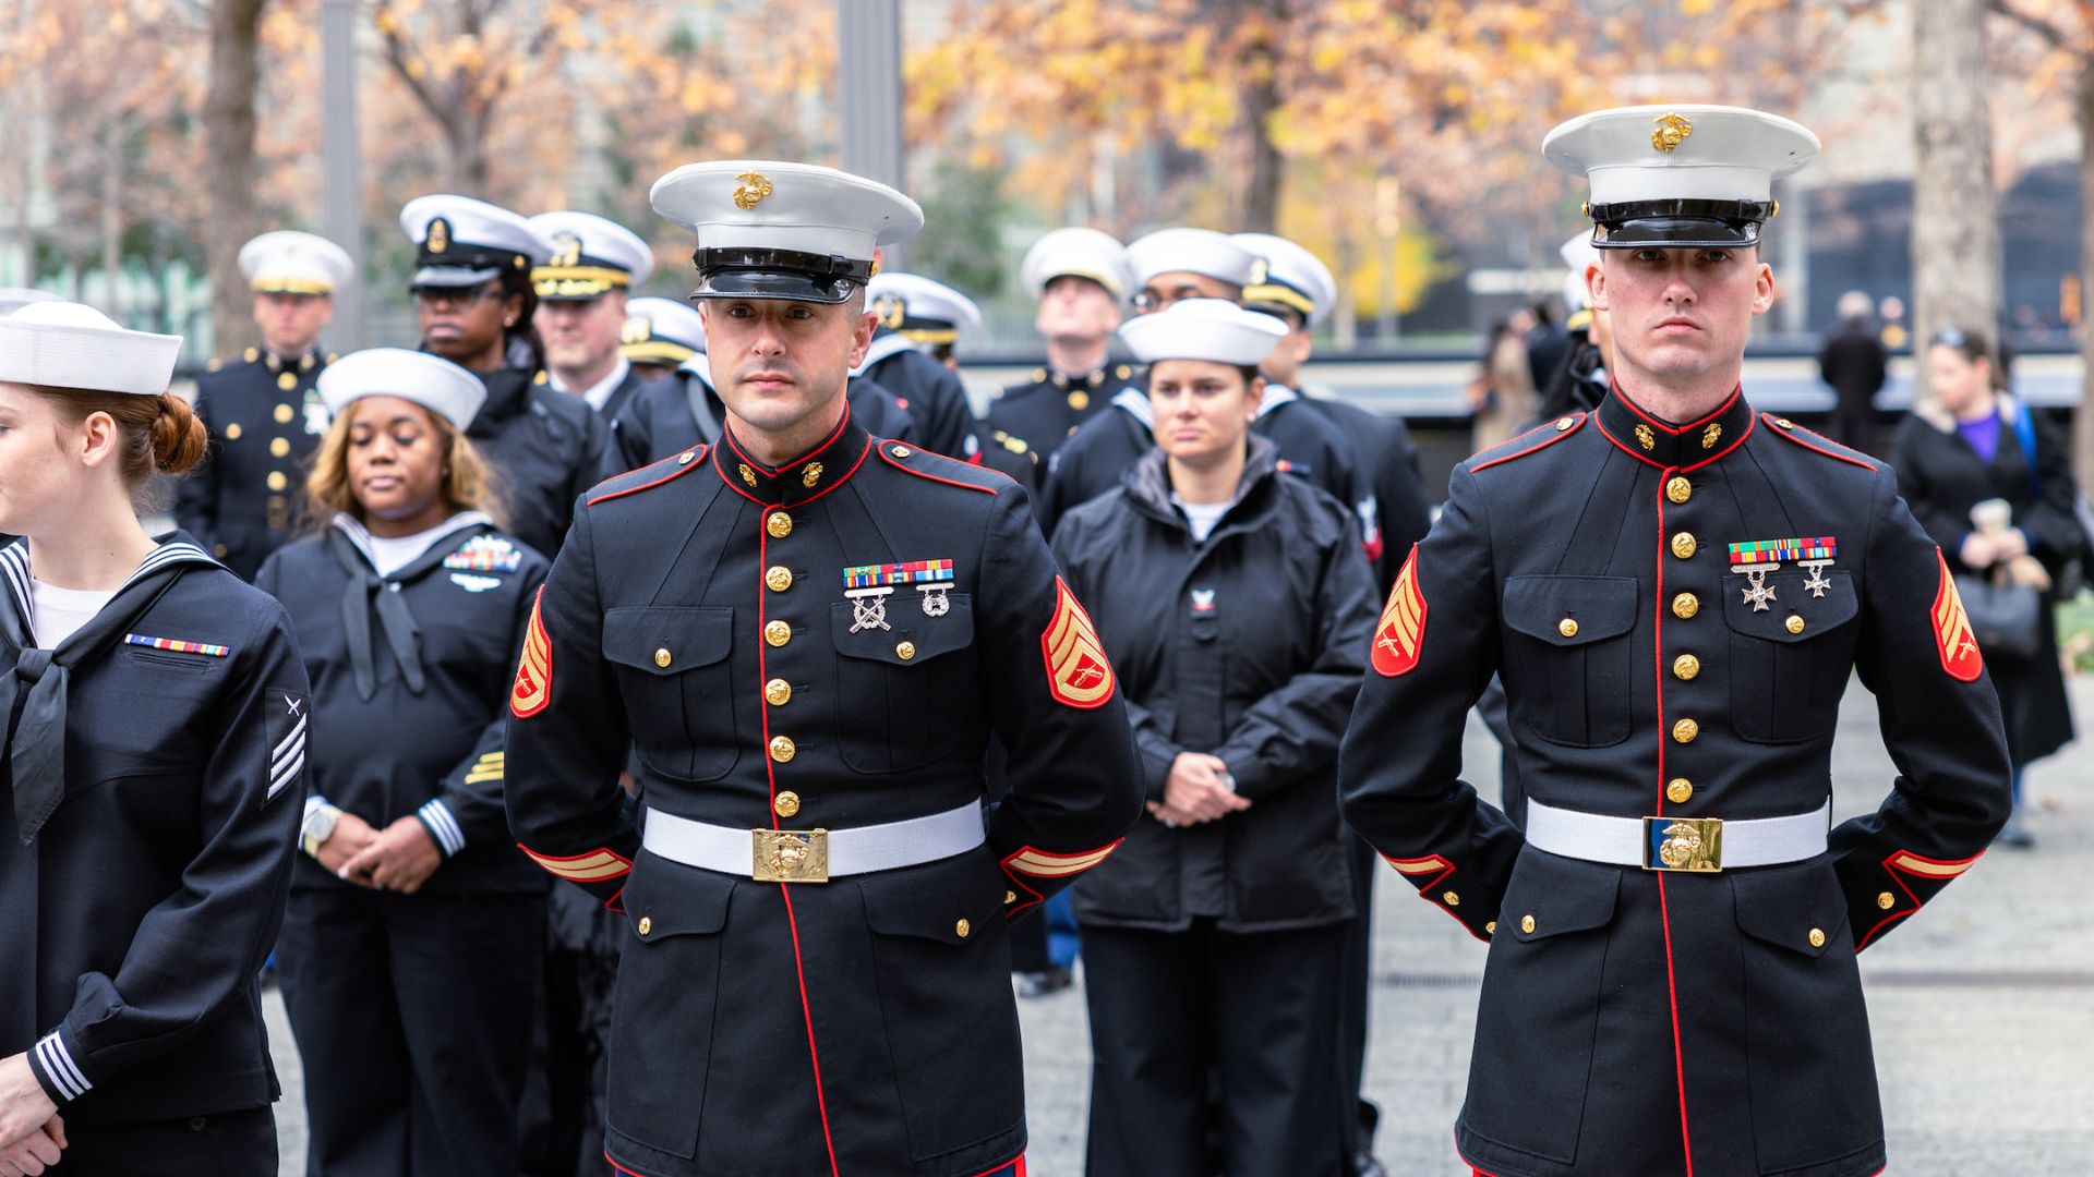
[[[2073,687],[2094,723],[2094,676]],[[1497,746],[1470,725],[1470,781],[1497,790]],[[1836,817],[1880,804],[1893,775],[1874,699],[1847,691],[1834,746]],[[2069,746],[2033,767],[2035,850],[1996,850],[1862,957],[1891,1135],[1891,1177],[2088,1177],[2094,1173],[2094,754]],[[1485,947],[1409,886],[1376,905],[1367,1095],[1395,1177],[1468,1177],[1451,1131],[1468,1074]],[[297,1062],[270,995],[285,1072],[283,1175],[302,1173]],[[1034,1177],[1083,1171],[1089,1028],[1081,989],[1022,1001]],[[1797,1026],[1797,1032],[1809,1032]],[[1171,1177],[1171,1175],[1160,1175]]]

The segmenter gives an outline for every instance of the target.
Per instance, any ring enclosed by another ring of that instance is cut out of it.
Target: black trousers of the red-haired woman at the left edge
[[[243,1108],[211,1116],[67,1125],[48,1177],[276,1177],[276,1116]]]

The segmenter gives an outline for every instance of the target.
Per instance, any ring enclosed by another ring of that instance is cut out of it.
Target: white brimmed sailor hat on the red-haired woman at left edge
[[[31,302],[0,318],[0,381],[159,396],[180,335],[126,331],[77,302]]]

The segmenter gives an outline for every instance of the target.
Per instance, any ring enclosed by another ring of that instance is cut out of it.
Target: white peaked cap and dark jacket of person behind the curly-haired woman
[[[505,291],[526,297],[521,329],[511,325],[503,367],[475,373],[488,385],[488,402],[467,438],[503,480],[509,534],[534,551],[559,551],[576,496],[603,469],[607,431],[586,400],[549,387],[530,339],[532,299],[538,297],[530,274],[553,260],[553,243],[509,209],[452,195],[408,201],[400,228],[415,243],[415,289],[500,281]]]

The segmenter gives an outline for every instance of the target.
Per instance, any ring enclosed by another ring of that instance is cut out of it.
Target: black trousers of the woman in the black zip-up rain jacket
[[[1284,932],[1083,926],[1091,1177],[1351,1173],[1344,1051],[1330,1009],[1344,924]],[[1219,1108],[1208,1079],[1223,1079]],[[1221,1156],[1208,1127],[1219,1116]],[[1219,1160],[1219,1164],[1217,1164]]]

